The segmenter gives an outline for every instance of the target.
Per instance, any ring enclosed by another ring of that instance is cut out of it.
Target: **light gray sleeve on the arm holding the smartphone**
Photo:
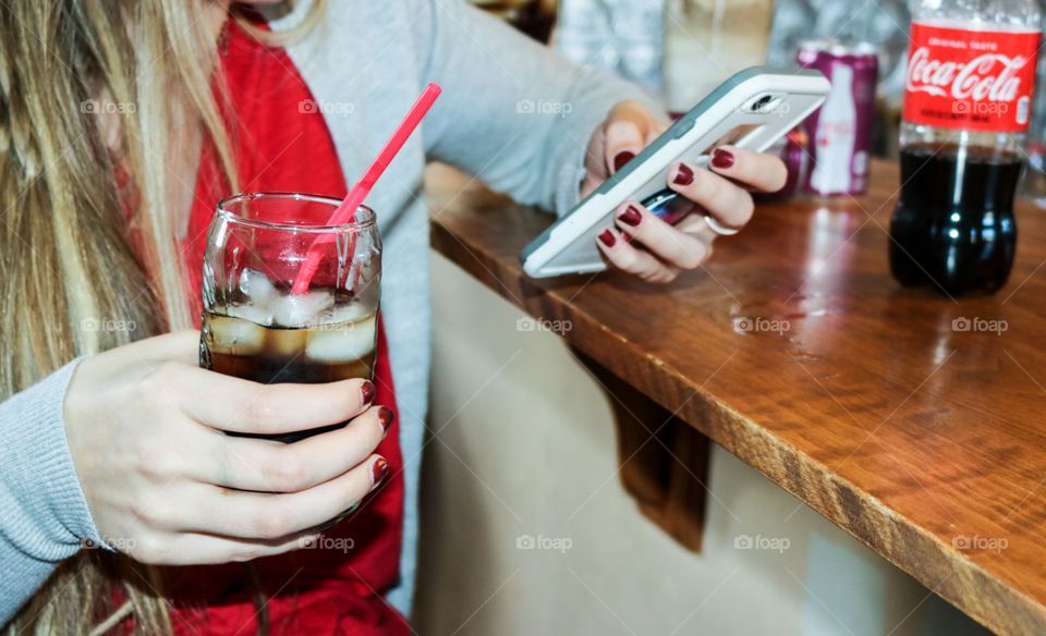
[[[640,87],[556,54],[463,0],[413,0],[423,77],[443,93],[425,148],[490,187],[562,213],[577,200],[585,148],[618,101],[661,117]]]

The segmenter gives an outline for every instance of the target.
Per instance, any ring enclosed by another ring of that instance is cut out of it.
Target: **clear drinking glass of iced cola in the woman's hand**
[[[218,204],[207,235],[199,365],[262,383],[373,379],[381,279],[374,212],[325,224],[341,201],[294,193]],[[306,292],[291,288],[309,250],[321,260]],[[276,436],[293,442],[344,423]]]

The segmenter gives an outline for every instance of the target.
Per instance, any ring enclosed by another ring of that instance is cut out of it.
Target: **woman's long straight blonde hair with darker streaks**
[[[196,126],[233,188],[238,181],[211,88],[208,1],[0,2],[0,401],[76,356],[192,325],[197,292],[182,276],[165,164],[173,129]],[[314,2],[267,44],[303,34],[323,8]],[[101,117],[119,118],[115,138]],[[5,633],[102,634],[133,612],[136,634],[170,634],[161,578],[126,556],[81,550]],[[117,589],[126,598],[119,608]]]

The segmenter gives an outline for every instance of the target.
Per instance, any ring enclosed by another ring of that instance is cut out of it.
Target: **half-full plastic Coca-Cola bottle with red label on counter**
[[[946,294],[1006,284],[1032,112],[1036,0],[915,0],[890,270]]]

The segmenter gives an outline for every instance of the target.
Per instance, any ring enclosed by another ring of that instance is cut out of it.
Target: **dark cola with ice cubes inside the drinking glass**
[[[376,308],[364,303],[337,304],[337,297],[332,291],[314,289],[301,297],[272,294],[266,306],[238,304],[204,310],[200,366],[264,384],[373,379]],[[341,426],[344,423],[287,435],[229,435],[290,443]]]

